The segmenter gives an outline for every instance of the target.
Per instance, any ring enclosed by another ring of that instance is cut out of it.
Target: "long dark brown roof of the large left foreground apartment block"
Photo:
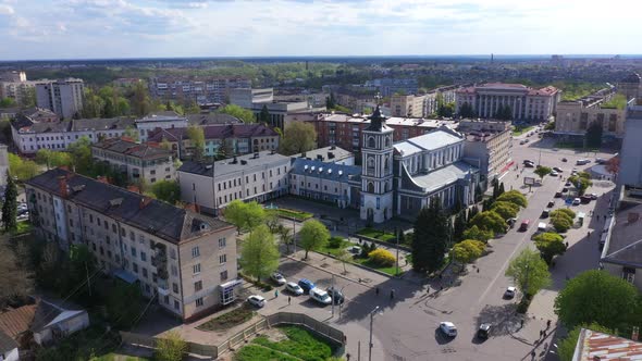
[[[178,244],[205,233],[231,227],[229,223],[196,214],[98,182],[63,169],[54,169],[26,182],[27,185],[62,197],[60,183],[67,185],[67,199],[159,238]],[[205,229],[200,229],[200,226]]]

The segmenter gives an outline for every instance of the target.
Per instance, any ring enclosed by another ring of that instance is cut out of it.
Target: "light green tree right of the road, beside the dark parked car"
[[[505,274],[513,277],[526,298],[534,296],[540,289],[551,284],[548,265],[538,251],[531,249],[524,249],[514,258]]]

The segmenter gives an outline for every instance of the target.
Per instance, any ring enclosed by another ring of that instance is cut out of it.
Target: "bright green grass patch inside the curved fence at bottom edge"
[[[259,336],[252,340],[252,344],[307,361],[325,361],[334,352],[333,347],[328,341],[305,328],[297,326],[284,326],[279,328],[283,331],[287,336],[287,339],[273,343],[264,336]]]

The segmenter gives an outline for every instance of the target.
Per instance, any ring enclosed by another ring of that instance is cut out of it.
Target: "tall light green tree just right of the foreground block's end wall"
[[[279,269],[279,247],[274,242],[274,236],[268,226],[257,226],[240,246],[240,265],[247,275],[268,277]]]

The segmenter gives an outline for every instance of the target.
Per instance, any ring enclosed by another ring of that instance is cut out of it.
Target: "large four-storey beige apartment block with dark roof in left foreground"
[[[37,235],[64,251],[86,245],[102,272],[138,284],[177,318],[236,298],[231,224],[63,169],[27,180],[25,189]]]

